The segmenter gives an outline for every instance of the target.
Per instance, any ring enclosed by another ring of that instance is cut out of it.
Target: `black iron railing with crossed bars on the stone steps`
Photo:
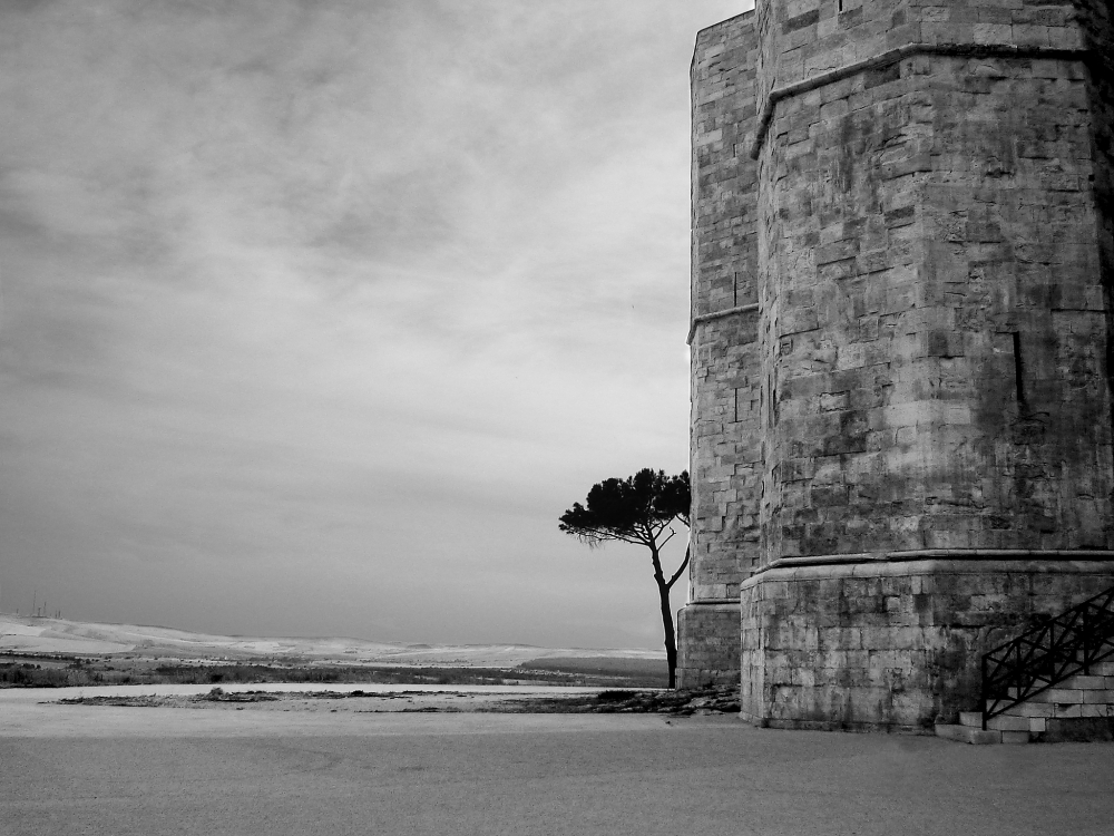
[[[983,728],[991,717],[1114,655],[1114,586],[983,655]]]

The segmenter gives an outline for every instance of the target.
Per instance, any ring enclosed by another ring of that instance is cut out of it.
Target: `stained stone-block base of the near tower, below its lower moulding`
[[[979,703],[980,657],[1114,585],[1104,561],[774,568],[742,592],[743,718],[930,732]]]

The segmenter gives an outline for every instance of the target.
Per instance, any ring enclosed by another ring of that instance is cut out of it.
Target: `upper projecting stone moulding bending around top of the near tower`
[[[751,143],[751,159],[758,159],[765,144],[766,133],[770,130],[770,123],[773,121],[774,110],[778,103],[792,96],[800,96],[802,93],[814,90],[824,85],[834,84],[841,79],[864,72],[870,69],[888,67],[915,55],[942,55],[960,58],[1043,58],[1049,60],[1084,61],[1091,55],[1089,49],[1054,49],[1052,47],[1015,47],[1008,43],[906,43],[902,47],[889,49],[872,58],[825,70],[802,81],[778,87],[766,96],[762,106],[762,115],[759,118],[759,127],[754,133],[754,142]]]

